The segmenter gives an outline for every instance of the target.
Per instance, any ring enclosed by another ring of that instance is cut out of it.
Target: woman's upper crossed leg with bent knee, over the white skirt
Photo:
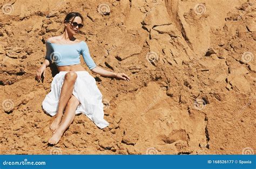
[[[62,120],[63,111],[72,95],[76,79],[77,79],[76,72],[70,71],[65,74],[65,80],[62,85],[62,90],[60,91],[60,96],[59,96],[58,110],[55,115],[55,119],[53,120],[50,126],[50,129],[52,131],[56,131],[60,121]]]

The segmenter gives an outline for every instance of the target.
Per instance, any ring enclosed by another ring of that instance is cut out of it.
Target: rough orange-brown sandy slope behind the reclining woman
[[[100,14],[103,3],[109,15]],[[2,0],[0,8],[1,154],[256,151],[253,1]],[[52,118],[41,104],[56,67],[47,68],[43,82],[35,74],[45,39],[62,32],[71,11],[84,16],[77,38],[96,64],[131,81],[92,74],[83,64],[102,91],[110,126],[100,130],[76,116],[51,147]]]

